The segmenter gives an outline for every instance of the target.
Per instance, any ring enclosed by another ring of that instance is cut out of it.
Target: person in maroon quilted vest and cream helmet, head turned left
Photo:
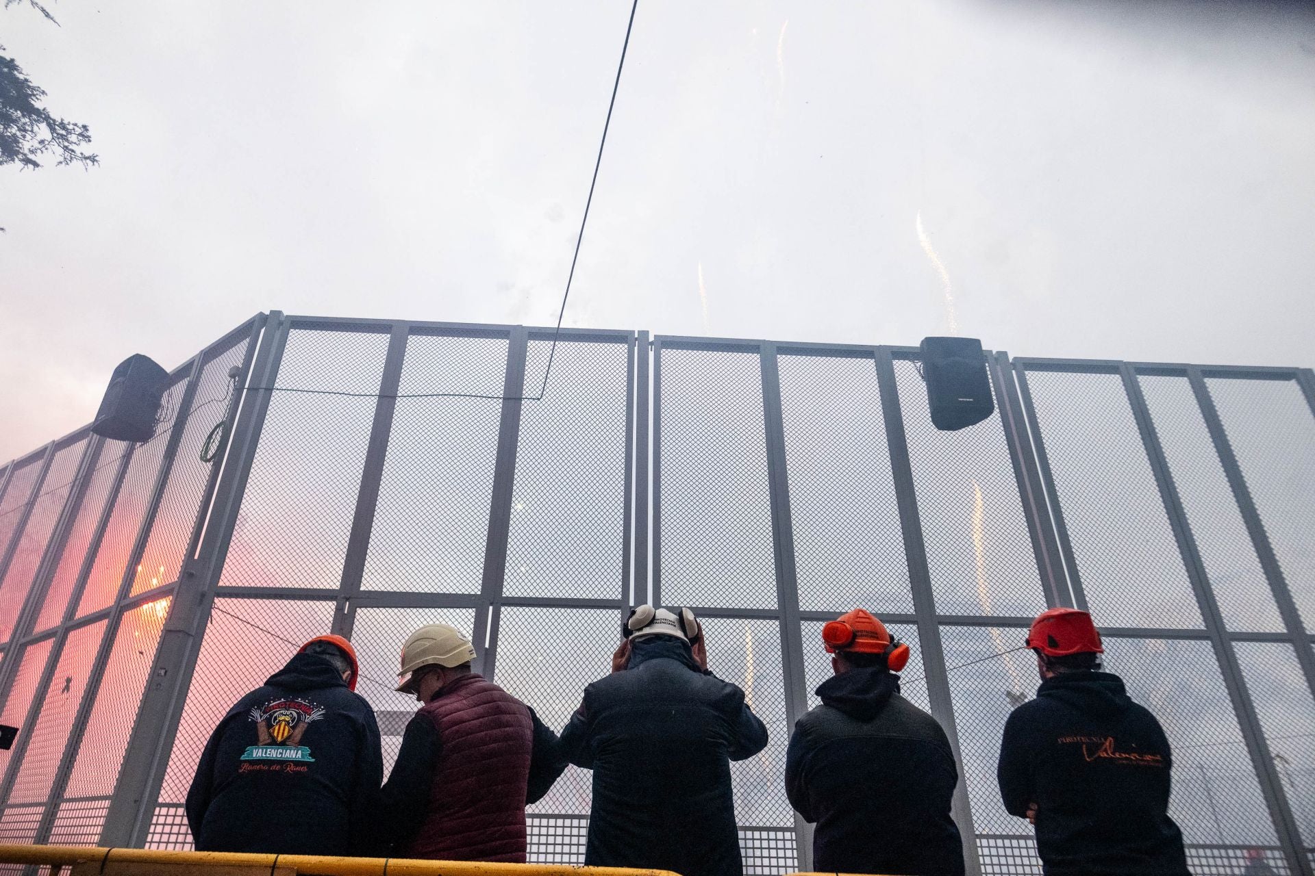
[[[384,854],[525,863],[525,805],[565,770],[534,711],[471,670],[475,647],[447,624],[402,646],[397,690],[422,703],[381,791]]]

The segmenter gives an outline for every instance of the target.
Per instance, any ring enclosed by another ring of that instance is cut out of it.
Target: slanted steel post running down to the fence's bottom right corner
[[[1297,829],[1297,822],[1293,818],[1291,808],[1289,806],[1287,797],[1283,793],[1282,783],[1274,770],[1274,762],[1269,753],[1269,743],[1265,741],[1260,720],[1256,717],[1256,709],[1251,700],[1251,693],[1247,691],[1247,682],[1243,678],[1241,667],[1237,663],[1237,654],[1233,651],[1232,642],[1230,641],[1224,628],[1223,615],[1219,611],[1218,602],[1215,602],[1214,591],[1210,588],[1210,579],[1206,574],[1205,563],[1201,561],[1201,553],[1198,552],[1195,538],[1191,535],[1191,525],[1187,521],[1187,515],[1182,507],[1182,499],[1178,495],[1173,474],[1169,470],[1169,464],[1164,456],[1164,448],[1160,444],[1155,422],[1151,418],[1151,410],[1147,407],[1145,397],[1141,393],[1141,385],[1137,381],[1137,376],[1132,365],[1127,362],[1120,364],[1119,374],[1123,378],[1123,387],[1127,393],[1128,403],[1132,407],[1137,429],[1141,433],[1141,443],[1151,462],[1151,470],[1153,471],[1156,485],[1160,489],[1160,498],[1164,502],[1165,515],[1169,517],[1174,538],[1178,542],[1178,550],[1182,554],[1184,566],[1186,566],[1187,570],[1187,578],[1190,579],[1191,588],[1197,595],[1197,603],[1201,607],[1201,615],[1206,623],[1206,632],[1210,636],[1211,645],[1214,646],[1215,658],[1219,661],[1219,670],[1223,675],[1224,687],[1228,691],[1233,712],[1237,716],[1237,726],[1247,743],[1247,751],[1251,755],[1252,766],[1256,770],[1261,793],[1265,796],[1265,802],[1269,805],[1270,818],[1274,822],[1274,831],[1278,835],[1278,843],[1283,850],[1287,865],[1293,873],[1312,876],[1311,863],[1306,858],[1304,848],[1301,844],[1301,834]]]

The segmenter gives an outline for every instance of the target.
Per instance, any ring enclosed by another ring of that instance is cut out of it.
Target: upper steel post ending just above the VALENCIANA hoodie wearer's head
[[[351,535],[347,537],[347,553],[343,557],[342,579],[338,586],[338,605],[333,619],[333,632],[346,638],[351,638],[355,621],[355,608],[351,603],[360,592],[360,579],[366,574],[366,556],[375,528],[379,485],[384,478],[384,457],[388,453],[388,436],[393,428],[393,412],[397,408],[397,391],[402,381],[402,359],[406,355],[410,327],[406,323],[393,324],[388,338],[388,353],[384,357],[384,373],[379,381],[379,398],[375,399],[375,419],[370,427],[370,444],[362,465],[356,510],[351,517]]]

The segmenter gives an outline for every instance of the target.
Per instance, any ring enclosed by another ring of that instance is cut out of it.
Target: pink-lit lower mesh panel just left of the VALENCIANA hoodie
[[[160,788],[155,818],[187,799],[205,742],[234,703],[329,632],[334,605],[293,599],[216,599]],[[162,812],[163,810],[163,812]],[[160,826],[155,820],[151,831]]]

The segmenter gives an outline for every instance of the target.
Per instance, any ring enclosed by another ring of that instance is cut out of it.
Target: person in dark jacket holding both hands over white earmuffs
[[[584,863],[740,876],[730,762],[767,747],[767,728],[707,671],[688,608],[640,605],[622,634],[562,732],[571,763],[593,770]]]

